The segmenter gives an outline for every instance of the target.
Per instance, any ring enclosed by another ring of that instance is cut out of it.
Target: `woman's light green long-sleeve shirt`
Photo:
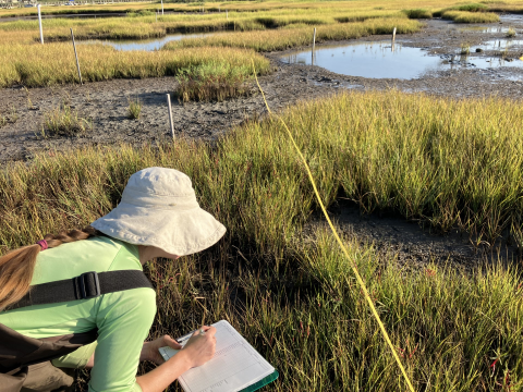
[[[99,236],[40,252],[32,284],[74,278],[87,271],[124,269],[142,270],[138,248]],[[136,370],[155,314],[156,293],[150,289],[134,289],[97,298],[2,311],[0,323],[35,339],[98,328],[97,344],[53,363],[63,367],[85,366],[96,347],[89,392],[141,392]]]

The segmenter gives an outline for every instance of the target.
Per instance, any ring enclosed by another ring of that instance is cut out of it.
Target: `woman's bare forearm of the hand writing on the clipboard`
[[[136,377],[136,382],[139,384],[143,392],[162,392],[191,367],[187,353],[180,351],[177,355],[165,364],[158,366],[156,369],[144,376]]]

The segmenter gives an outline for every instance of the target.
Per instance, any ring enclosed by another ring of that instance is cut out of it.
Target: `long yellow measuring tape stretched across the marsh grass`
[[[256,84],[258,85],[259,90],[262,91],[262,96],[264,97],[264,102],[267,108],[267,111],[269,112],[270,115],[276,115],[270,111],[269,105],[267,103],[267,99],[265,99],[265,93],[262,89],[262,86],[259,85],[258,77],[256,76],[256,66],[254,65],[254,60],[251,60],[253,62],[253,70],[254,70],[254,77],[256,78]],[[297,147],[296,142],[294,140],[294,137],[292,137],[291,131],[287,126],[285,122],[279,117],[276,115],[278,120],[281,121],[283,124],[283,127],[285,128],[287,133],[289,134],[289,137],[292,140],[292,144],[294,145],[294,148],[296,149],[297,154],[300,155],[300,158],[303,161],[303,164],[305,164],[305,169],[307,170],[308,174],[308,180],[311,180],[311,184],[313,184],[314,193],[316,195],[316,198],[318,199],[319,206],[321,207],[321,211],[324,211],[325,218],[327,219],[327,222],[329,222],[330,230],[332,230],[332,233],[335,234],[336,241],[338,241],[338,244],[340,245],[341,249],[343,250],[343,254],[345,257],[351,261],[351,268],[354,271],[354,274],[356,275],[357,282],[362,286],[362,291],[365,294],[365,298],[367,299],[368,306],[370,306],[370,309],[373,310],[373,315],[378,321],[379,328],[381,330],[381,333],[384,334],[385,340],[387,341],[387,344],[389,345],[392,355],[396,358],[396,362],[398,363],[398,366],[401,369],[401,372],[403,373],[403,377],[405,378],[406,383],[409,384],[409,389],[411,392],[415,392],[414,387],[411,383],[411,380],[409,380],[409,376],[406,376],[405,368],[403,367],[403,364],[400,360],[400,357],[398,356],[398,353],[396,352],[396,347],[392,345],[392,342],[390,341],[389,334],[387,333],[387,330],[385,329],[384,323],[381,322],[381,319],[379,318],[378,311],[376,310],[376,307],[374,306],[373,299],[370,298],[370,295],[368,295],[367,287],[365,286],[365,282],[363,281],[362,277],[360,275],[360,272],[357,272],[357,268],[352,260],[351,256],[349,256],[349,252],[345,248],[345,245],[343,245],[343,242],[341,241],[340,236],[338,235],[338,232],[335,229],[335,225],[332,224],[329,215],[327,213],[327,209],[324,206],[324,203],[321,201],[321,197],[319,197],[319,192],[318,188],[316,187],[316,183],[314,182],[313,173],[311,172],[311,169],[308,167],[307,161],[305,160],[305,157],[303,156],[302,151],[300,150],[300,147]]]

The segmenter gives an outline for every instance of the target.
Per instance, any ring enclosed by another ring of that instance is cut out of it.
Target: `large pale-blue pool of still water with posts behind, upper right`
[[[318,65],[342,75],[373,78],[415,78],[429,71],[453,68],[492,69],[523,66],[522,61],[507,62],[500,58],[455,58],[430,56],[419,48],[404,47],[390,41],[321,47],[314,52],[302,51],[282,57],[290,64]]]

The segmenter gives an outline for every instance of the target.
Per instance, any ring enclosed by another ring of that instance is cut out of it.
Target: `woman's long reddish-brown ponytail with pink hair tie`
[[[47,234],[48,248],[98,235],[87,226],[83,230],[71,230],[58,235]],[[0,257],[0,310],[17,303],[29,291],[36,259],[41,250],[39,244],[23,246]]]

